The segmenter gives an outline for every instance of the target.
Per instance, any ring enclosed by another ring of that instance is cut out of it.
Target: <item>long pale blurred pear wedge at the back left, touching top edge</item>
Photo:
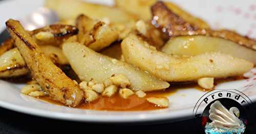
[[[93,19],[109,19],[110,22],[127,22],[135,17],[120,9],[110,6],[96,5],[83,1],[47,0],[45,6],[57,12],[61,20],[75,19],[84,14]]]

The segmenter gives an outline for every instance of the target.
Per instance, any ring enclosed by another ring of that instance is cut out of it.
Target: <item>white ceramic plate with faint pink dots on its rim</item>
[[[93,1],[95,2],[95,1]],[[113,1],[97,1],[113,4]],[[174,1],[187,11],[205,19],[214,28],[237,30],[243,35],[256,38],[256,5],[253,0],[240,1]],[[43,1],[4,1],[0,2],[0,29],[8,18],[22,18],[42,6]],[[254,33],[253,33],[254,31]],[[247,80],[228,82],[218,85],[217,89],[237,89],[249,98],[256,100],[256,69],[251,70]],[[110,112],[72,109],[42,102],[35,98],[21,95],[23,85],[10,84],[0,81],[0,106],[17,112],[42,117],[84,121],[84,122],[147,122],[147,121],[176,121],[188,119],[193,114],[193,106],[205,93],[196,89],[181,89],[169,96],[168,109],[142,112]]]

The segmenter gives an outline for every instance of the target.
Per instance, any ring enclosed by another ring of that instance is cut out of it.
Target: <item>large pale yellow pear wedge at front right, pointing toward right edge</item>
[[[125,38],[121,48],[126,62],[168,82],[236,76],[253,67],[251,62],[220,52],[209,52],[188,58],[166,55],[135,35]]]

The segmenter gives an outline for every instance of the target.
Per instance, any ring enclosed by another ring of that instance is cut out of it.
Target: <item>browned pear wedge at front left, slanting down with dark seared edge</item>
[[[78,85],[45,56],[19,21],[9,19],[6,26],[38,84],[53,100],[69,106],[77,106],[83,97]]]

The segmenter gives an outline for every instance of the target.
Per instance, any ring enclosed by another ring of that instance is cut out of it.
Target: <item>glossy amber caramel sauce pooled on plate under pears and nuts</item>
[[[215,81],[215,85],[223,83],[223,82],[229,82],[229,81],[235,81],[244,79],[244,77],[232,77],[232,78],[225,78],[225,79],[217,79]],[[101,96],[93,101],[93,102],[85,102],[82,101],[79,106],[77,106],[77,109],[84,109],[84,110],[106,110],[106,111],[146,111],[146,110],[158,110],[158,109],[164,109],[160,106],[157,106],[155,104],[152,104],[150,102],[146,101],[147,97],[168,97],[176,93],[179,89],[191,89],[194,88],[196,90],[202,90],[202,91],[210,91],[210,90],[204,90],[200,88],[197,83],[172,83],[170,84],[170,88],[162,90],[162,91],[153,91],[153,92],[147,92],[146,96],[144,98],[139,98],[137,95],[132,95],[127,99],[121,98],[118,93],[116,93],[112,97],[104,97]],[[63,105],[62,103],[56,102],[52,100],[50,97],[40,97],[39,99],[43,101],[47,101],[53,104],[57,105]]]

